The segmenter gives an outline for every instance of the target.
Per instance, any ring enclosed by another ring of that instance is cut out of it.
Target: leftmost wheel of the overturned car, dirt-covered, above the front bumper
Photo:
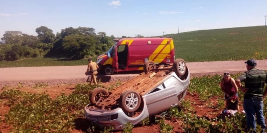
[[[109,92],[102,87],[95,88],[89,94],[90,103],[95,104],[102,96],[109,95]]]

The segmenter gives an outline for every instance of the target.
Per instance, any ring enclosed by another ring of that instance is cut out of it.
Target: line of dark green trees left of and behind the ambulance
[[[62,29],[56,35],[46,26],[40,26],[35,32],[37,36],[6,31],[1,38],[4,43],[0,43],[0,61],[36,57],[79,60],[100,55],[115,43],[113,35],[106,36],[105,32],[96,33],[94,28],[81,26]]]

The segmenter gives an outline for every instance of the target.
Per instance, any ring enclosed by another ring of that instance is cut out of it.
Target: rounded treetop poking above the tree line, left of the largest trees
[[[40,26],[35,30],[35,32],[38,34],[38,38],[43,43],[52,43],[56,38],[53,31],[48,29],[46,26]]]

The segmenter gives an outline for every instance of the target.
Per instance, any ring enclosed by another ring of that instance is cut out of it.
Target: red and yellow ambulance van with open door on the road
[[[97,57],[98,72],[111,75],[114,72],[144,69],[146,61],[156,66],[174,63],[175,52],[172,38],[122,38],[103,55]]]

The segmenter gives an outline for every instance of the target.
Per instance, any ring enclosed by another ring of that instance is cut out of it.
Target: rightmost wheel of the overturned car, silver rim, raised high
[[[183,76],[186,72],[186,64],[183,59],[176,59],[173,63],[173,70],[177,76]]]

